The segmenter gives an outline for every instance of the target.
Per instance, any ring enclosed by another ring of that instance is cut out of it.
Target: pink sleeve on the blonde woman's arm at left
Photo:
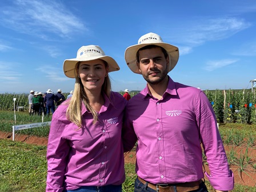
[[[53,114],[50,126],[50,133],[47,145],[47,192],[63,191],[64,176],[67,163],[67,155],[69,154],[69,144],[62,137],[65,124],[62,123],[57,115]]]

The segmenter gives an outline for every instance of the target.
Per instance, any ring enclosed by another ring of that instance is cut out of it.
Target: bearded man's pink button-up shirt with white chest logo
[[[183,183],[202,179],[202,149],[207,156],[211,185],[232,190],[233,174],[219,135],[213,107],[203,91],[169,77],[163,98],[146,87],[126,106],[123,145],[138,138],[136,172],[150,183]]]

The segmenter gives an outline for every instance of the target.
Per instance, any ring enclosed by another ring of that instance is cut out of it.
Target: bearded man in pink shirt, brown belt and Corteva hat
[[[206,192],[201,143],[215,191],[233,190],[213,107],[202,90],[168,75],[178,58],[178,47],[155,33],[125,51],[127,66],[147,82],[127,104],[122,131],[125,151],[138,142],[134,191]]]

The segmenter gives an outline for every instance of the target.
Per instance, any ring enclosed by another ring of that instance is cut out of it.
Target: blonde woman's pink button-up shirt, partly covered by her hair
[[[82,105],[81,129],[67,120],[68,105],[58,107],[47,146],[46,191],[121,185],[125,181],[121,130],[126,103],[119,93],[112,92],[110,100],[105,95],[95,124]]]

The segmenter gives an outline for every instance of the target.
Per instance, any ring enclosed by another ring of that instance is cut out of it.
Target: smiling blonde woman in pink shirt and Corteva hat
[[[46,191],[121,192],[125,181],[121,129],[126,99],[111,91],[115,60],[95,45],[63,63],[74,93],[53,114]]]

